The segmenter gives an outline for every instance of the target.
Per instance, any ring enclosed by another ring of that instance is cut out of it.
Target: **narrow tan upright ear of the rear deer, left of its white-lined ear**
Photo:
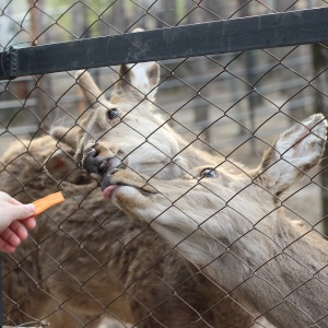
[[[75,79],[89,106],[92,106],[97,102],[107,102],[104,93],[96,85],[89,72],[80,70],[75,73]]]

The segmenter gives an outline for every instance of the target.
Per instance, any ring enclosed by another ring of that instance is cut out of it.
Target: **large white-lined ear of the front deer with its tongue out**
[[[258,181],[280,194],[318,164],[327,138],[327,120],[316,114],[283,132],[269,149],[257,171]]]

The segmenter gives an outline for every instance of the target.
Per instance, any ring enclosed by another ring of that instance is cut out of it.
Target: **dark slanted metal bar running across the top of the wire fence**
[[[328,40],[328,8],[292,11],[0,54],[0,79]]]

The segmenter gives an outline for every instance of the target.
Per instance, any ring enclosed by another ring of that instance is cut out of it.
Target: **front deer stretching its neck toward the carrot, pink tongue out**
[[[327,120],[283,132],[257,168],[196,167],[163,180],[103,174],[103,196],[144,221],[249,313],[277,327],[328,327],[328,242],[280,210],[284,192],[320,161]]]

